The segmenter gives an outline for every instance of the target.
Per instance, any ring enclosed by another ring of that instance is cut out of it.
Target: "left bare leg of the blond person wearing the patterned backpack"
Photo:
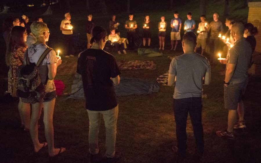
[[[35,152],[38,152],[43,145],[39,142],[38,139],[38,120],[41,116],[41,103],[32,104],[32,116],[30,121],[30,135],[32,138],[32,142],[34,144]]]

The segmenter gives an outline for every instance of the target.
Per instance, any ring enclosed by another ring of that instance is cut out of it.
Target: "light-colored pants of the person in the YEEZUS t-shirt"
[[[95,155],[99,153],[98,136],[102,114],[106,128],[106,156],[107,158],[113,158],[115,155],[119,106],[117,105],[115,108],[106,111],[91,111],[87,109],[87,112],[89,116],[90,154]]]

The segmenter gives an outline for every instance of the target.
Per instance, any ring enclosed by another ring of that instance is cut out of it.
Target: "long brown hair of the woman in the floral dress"
[[[10,66],[11,64],[11,52],[14,48],[24,47],[27,48],[24,40],[23,33],[26,32],[25,27],[14,26],[8,36],[8,43],[6,48],[6,65]]]

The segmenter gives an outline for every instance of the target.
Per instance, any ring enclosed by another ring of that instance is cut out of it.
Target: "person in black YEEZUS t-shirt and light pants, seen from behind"
[[[103,50],[107,32],[96,26],[92,31],[90,49],[82,51],[77,60],[77,73],[81,74],[85,107],[89,116],[90,162],[99,162],[98,136],[101,116],[106,127],[106,162],[116,161],[118,102],[113,85],[118,85],[121,74],[113,55]]]

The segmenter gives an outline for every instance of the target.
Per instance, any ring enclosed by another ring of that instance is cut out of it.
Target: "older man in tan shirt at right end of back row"
[[[217,54],[220,51],[220,40],[218,35],[223,32],[223,25],[222,22],[218,20],[219,14],[213,14],[213,21],[209,24],[208,31],[210,31],[210,40],[209,40],[209,47],[210,47],[210,61],[213,60],[214,54]]]

